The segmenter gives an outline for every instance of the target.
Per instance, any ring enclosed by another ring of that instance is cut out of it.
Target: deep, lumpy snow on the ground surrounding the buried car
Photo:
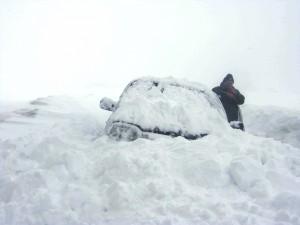
[[[300,224],[300,114],[245,105],[247,132],[115,142],[103,96],[0,110],[0,224]]]

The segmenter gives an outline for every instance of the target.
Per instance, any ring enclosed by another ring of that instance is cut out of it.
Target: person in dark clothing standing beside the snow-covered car
[[[244,131],[244,124],[239,105],[244,103],[245,97],[239,92],[239,90],[235,89],[233,83],[233,76],[231,74],[227,74],[220,86],[214,87],[212,91],[219,96],[230,125],[233,128]]]

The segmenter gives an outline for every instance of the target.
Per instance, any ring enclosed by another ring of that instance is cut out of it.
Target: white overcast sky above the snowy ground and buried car
[[[147,75],[297,91],[299,22],[299,0],[0,0],[0,99]]]

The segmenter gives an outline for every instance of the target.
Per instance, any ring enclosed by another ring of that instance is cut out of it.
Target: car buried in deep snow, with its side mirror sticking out
[[[100,101],[111,111],[105,132],[114,139],[156,135],[197,139],[229,127],[223,106],[205,86],[173,78],[141,78],[130,82],[119,101]]]

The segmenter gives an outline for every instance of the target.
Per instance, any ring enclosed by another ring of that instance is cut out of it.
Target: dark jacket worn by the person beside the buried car
[[[239,119],[239,106],[245,101],[244,95],[242,95],[239,90],[235,89],[233,86],[230,89],[218,86],[212,89],[215,92],[225,109],[228,122],[237,121]]]

